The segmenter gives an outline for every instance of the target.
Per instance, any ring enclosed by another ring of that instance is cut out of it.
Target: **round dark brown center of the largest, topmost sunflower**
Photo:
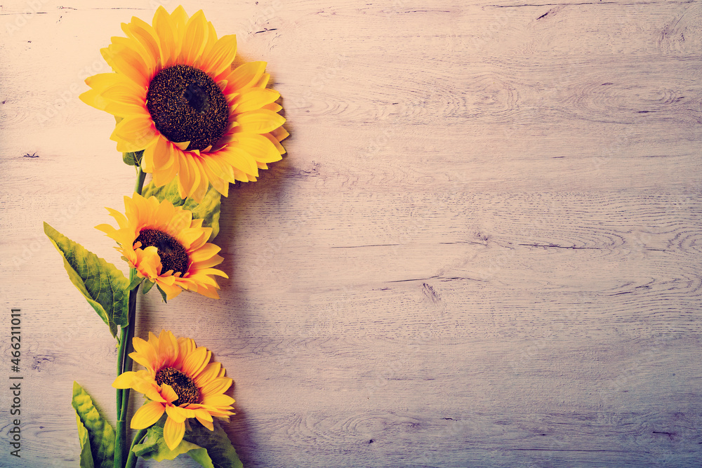
[[[187,149],[205,149],[219,140],[229,123],[229,106],[219,86],[188,65],[162,69],[146,94],[156,128],[168,140],[189,141]]]

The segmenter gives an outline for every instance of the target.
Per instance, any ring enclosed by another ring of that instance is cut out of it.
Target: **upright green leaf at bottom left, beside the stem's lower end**
[[[86,391],[73,382],[72,406],[76,410],[78,435],[81,439],[81,467],[112,468],[114,428],[98,412]],[[81,431],[81,425],[86,433]],[[86,450],[86,446],[88,450]],[[90,460],[88,461],[88,456]]]

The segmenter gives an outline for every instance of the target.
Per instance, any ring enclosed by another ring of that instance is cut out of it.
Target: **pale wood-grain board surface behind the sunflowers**
[[[24,376],[2,466],[76,466],[73,380],[114,422],[114,341],[41,222],[126,271],[93,226],[133,170],[77,95],[157,5],[0,6]],[[138,335],[193,337],[234,378],[245,467],[700,466],[700,2],[184,6],[268,62],[292,135],[223,201],[222,299],[140,302]]]

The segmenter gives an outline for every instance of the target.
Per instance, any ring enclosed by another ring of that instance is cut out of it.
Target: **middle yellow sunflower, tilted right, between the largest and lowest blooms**
[[[168,200],[159,203],[155,196],[125,196],[124,208],[126,216],[107,208],[119,229],[110,225],[95,229],[117,241],[117,250],[140,278],[156,283],[168,300],[183,289],[219,298],[213,275],[228,276],[213,268],[224,259],[217,255],[221,249],[207,242],[211,227],[202,227],[202,220],[192,219],[191,211]]]

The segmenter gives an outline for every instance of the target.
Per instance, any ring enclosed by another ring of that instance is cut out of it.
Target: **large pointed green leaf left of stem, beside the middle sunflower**
[[[112,336],[117,336],[117,326],[128,323],[128,279],[112,263],[68,239],[46,222],[44,232],[63,256],[63,266],[71,282],[107,323]]]

